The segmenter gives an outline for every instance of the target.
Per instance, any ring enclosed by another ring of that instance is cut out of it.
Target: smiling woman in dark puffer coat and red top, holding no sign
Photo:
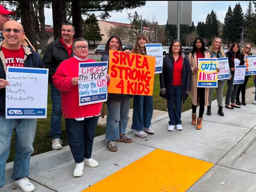
[[[161,96],[167,100],[169,126],[168,131],[182,130],[181,106],[191,89],[191,66],[189,60],[182,54],[181,43],[172,41],[170,52],[163,58],[163,70],[160,73]]]

